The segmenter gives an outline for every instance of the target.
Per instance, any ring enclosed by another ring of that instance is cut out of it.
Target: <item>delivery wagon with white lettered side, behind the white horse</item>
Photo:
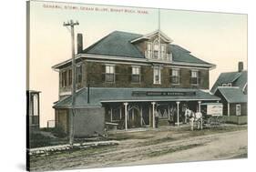
[[[203,126],[220,126],[225,123],[222,112],[223,105],[221,103],[201,104]]]

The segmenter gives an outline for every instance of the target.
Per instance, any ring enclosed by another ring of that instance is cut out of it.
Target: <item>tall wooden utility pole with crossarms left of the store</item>
[[[73,146],[74,143],[74,116],[75,116],[75,100],[76,100],[76,84],[77,84],[77,66],[75,60],[75,41],[74,41],[74,26],[79,25],[78,22],[73,20],[64,22],[64,26],[70,26],[71,28],[71,46],[72,46],[72,114],[69,115],[69,144]]]

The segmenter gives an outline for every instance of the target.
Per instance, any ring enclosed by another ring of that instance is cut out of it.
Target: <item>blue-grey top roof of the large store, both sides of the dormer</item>
[[[92,46],[87,47],[83,53],[93,55],[145,58],[145,56],[138,50],[138,47],[130,43],[130,41],[141,36],[143,35],[114,31],[98,40]],[[171,44],[169,45],[169,50],[172,53],[172,59],[174,62],[210,65],[210,63],[190,55],[190,52],[181,46]]]

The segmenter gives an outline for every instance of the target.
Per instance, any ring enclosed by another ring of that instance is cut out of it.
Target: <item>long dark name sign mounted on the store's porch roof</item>
[[[196,96],[195,91],[133,91],[132,96]]]

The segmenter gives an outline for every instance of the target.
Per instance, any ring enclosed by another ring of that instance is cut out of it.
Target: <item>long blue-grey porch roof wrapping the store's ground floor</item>
[[[133,96],[134,91],[160,91],[160,92],[195,92],[193,96]],[[113,87],[91,87],[90,103],[87,103],[87,87],[76,93],[75,106],[101,106],[101,102],[129,102],[129,101],[177,101],[177,100],[220,100],[218,96],[195,88],[113,88]],[[71,96],[60,100],[55,108],[71,107]]]

